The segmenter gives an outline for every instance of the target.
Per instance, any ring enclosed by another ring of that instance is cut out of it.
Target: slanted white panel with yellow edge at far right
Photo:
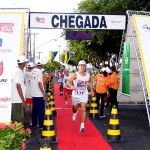
[[[150,97],[150,16],[133,15],[133,20],[142,59],[146,87],[148,96]]]

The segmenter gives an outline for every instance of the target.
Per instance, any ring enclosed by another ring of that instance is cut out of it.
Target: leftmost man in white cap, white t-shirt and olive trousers
[[[26,107],[25,102],[25,84],[24,84],[24,74],[23,68],[26,65],[28,59],[25,59],[24,56],[20,56],[17,59],[18,68],[15,69],[12,77],[11,83],[11,103],[12,103],[12,112],[11,112],[11,121],[12,122],[24,122],[24,110]]]

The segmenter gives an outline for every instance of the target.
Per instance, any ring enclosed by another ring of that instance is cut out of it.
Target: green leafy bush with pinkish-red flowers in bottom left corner
[[[21,123],[15,122],[8,126],[0,123],[0,150],[25,150],[25,141],[30,133],[30,129],[24,129]]]

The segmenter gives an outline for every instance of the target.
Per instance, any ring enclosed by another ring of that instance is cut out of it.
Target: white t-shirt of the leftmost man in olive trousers
[[[20,68],[15,69],[13,73],[13,77],[12,77],[12,82],[11,82],[11,102],[12,103],[22,103],[22,100],[17,90],[17,83],[21,84],[23,96],[25,97],[26,86],[24,84],[23,71]]]

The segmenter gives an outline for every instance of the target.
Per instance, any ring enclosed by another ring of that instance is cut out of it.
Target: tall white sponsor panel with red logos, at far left
[[[24,16],[0,11],[0,122],[11,122],[11,76],[22,55]]]

